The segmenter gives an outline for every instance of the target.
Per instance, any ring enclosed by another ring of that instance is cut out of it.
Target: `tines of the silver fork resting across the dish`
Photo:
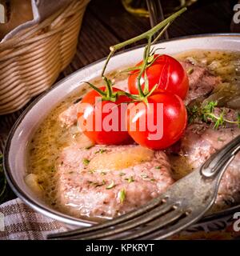
[[[150,203],[129,214],[114,218],[109,222],[72,230],[62,234],[52,234],[48,238],[60,239],[134,239],[159,231],[173,222],[185,218],[186,210],[179,209],[176,202],[166,196],[153,199]],[[140,228],[141,227],[141,228]]]

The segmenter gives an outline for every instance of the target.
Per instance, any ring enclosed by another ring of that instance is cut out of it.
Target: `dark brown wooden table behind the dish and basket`
[[[162,0],[163,9],[164,1]],[[168,30],[170,38],[190,34],[227,33],[236,0],[198,0]],[[148,18],[135,17],[122,7],[120,0],[92,0],[86,10],[79,34],[78,51],[58,80],[109,53],[109,46],[150,29]],[[141,43],[141,42],[139,42]],[[0,153],[10,128],[22,110],[0,116]],[[12,197],[12,196],[11,196]],[[7,198],[6,198],[7,199]]]

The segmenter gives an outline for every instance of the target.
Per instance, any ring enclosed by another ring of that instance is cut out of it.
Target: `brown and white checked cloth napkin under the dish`
[[[47,234],[66,230],[62,223],[31,210],[19,198],[0,206],[0,240],[43,240]]]

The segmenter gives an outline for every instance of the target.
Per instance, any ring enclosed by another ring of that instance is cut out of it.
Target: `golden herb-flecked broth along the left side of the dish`
[[[115,78],[115,76],[116,72],[108,74],[108,77],[118,83],[118,87],[122,88],[122,83],[126,85],[127,74],[118,74],[118,78]],[[102,86],[101,78],[91,82],[95,86]],[[81,133],[76,129],[76,126],[62,126],[59,114],[81,100],[82,96],[89,90],[89,86],[76,90],[56,106],[38,127],[28,146],[28,174],[35,175],[26,176],[26,183],[38,194],[39,198],[42,198],[56,210],[61,209],[58,208],[56,203],[56,182],[58,177],[55,163],[62,149],[71,143],[78,142],[81,137]],[[42,193],[40,193],[41,191]]]

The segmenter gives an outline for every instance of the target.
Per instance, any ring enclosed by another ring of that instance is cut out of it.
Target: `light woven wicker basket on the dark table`
[[[0,115],[19,110],[55,82],[74,57],[90,0],[74,0],[0,44]]]

